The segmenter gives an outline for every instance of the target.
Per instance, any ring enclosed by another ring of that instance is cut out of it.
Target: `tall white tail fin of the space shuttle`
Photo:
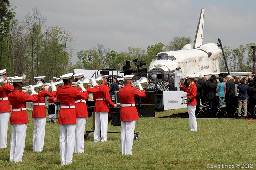
[[[194,46],[193,49],[196,49],[203,44],[203,26],[204,26],[204,9],[201,9],[200,17],[199,17],[199,22],[195,34],[195,41],[194,41]]]

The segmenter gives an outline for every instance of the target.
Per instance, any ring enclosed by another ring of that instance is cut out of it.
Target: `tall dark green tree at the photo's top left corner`
[[[7,38],[11,21],[15,17],[14,10],[9,0],[0,1],[0,69],[7,68],[9,64]]]

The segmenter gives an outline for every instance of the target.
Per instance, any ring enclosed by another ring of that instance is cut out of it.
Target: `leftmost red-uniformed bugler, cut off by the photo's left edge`
[[[6,69],[0,70],[3,87],[0,87],[0,148],[7,148],[7,131],[10,118],[11,104],[8,94],[13,91],[13,86],[6,83]]]

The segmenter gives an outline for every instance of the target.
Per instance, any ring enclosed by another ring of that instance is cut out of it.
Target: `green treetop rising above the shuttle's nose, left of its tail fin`
[[[191,42],[191,37],[174,37],[171,42],[166,45],[166,51],[176,51],[183,48],[184,45],[189,44]]]

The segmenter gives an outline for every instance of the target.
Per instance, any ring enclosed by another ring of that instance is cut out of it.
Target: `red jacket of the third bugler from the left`
[[[37,101],[33,103],[44,103],[46,96],[56,97],[56,91],[49,92],[45,90],[45,88],[43,88],[42,92],[38,92]],[[45,105],[34,105],[32,118],[41,118],[41,117],[46,117]]]

